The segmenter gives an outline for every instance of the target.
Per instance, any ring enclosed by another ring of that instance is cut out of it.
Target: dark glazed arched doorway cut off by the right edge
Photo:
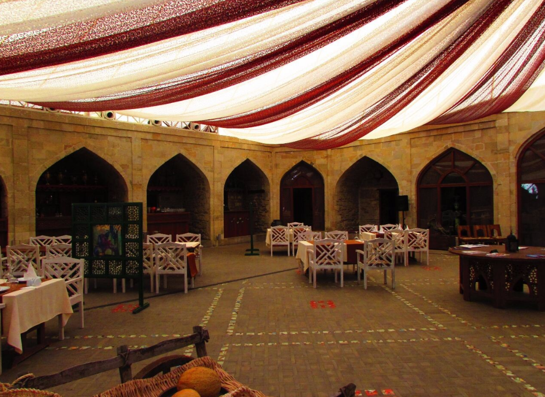
[[[542,247],[545,245],[545,130],[530,139],[520,152],[517,186],[520,243]]]

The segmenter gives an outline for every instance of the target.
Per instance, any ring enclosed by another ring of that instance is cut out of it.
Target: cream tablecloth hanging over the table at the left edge
[[[2,297],[4,336],[8,344],[22,353],[21,333],[62,315],[62,326],[73,313],[63,279],[47,280],[36,288],[20,289]]]

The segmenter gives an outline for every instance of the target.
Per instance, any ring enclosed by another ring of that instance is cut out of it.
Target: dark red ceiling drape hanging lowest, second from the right
[[[332,149],[355,141],[376,129],[401,111],[423,90],[429,87],[455,60],[473,44],[512,0],[494,2],[470,29],[465,31],[439,56],[420,69],[400,87],[387,94],[373,106],[335,129],[312,138],[301,139],[286,146],[294,149]]]

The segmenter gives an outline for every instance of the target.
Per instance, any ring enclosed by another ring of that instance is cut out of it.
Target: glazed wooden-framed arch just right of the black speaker
[[[447,149],[417,179],[417,225],[433,229],[437,221],[456,235],[458,225],[491,224],[493,198],[488,169],[458,149]]]

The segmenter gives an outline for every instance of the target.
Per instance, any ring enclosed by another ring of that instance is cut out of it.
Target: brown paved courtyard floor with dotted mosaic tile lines
[[[50,346],[0,380],[50,374],[112,357],[119,345],[149,346],[203,325],[209,355],[271,396],[329,396],[349,382],[362,395],[545,396],[545,313],[464,302],[456,256],[437,251],[429,268],[397,267],[395,290],[379,272],[364,290],[352,267],[344,288],[320,274],[313,289],[293,257],[278,249],[271,258],[258,247],[261,256],[244,256],[247,245],[206,248],[203,275],[188,294],[176,278],[150,294],[147,279],[150,306],[136,315],[129,311],[136,288],[113,294],[111,281],[101,280],[86,295],[84,329],[76,313],[59,341],[56,320],[48,322]],[[52,390],[91,396],[118,383],[118,372],[108,371]]]

